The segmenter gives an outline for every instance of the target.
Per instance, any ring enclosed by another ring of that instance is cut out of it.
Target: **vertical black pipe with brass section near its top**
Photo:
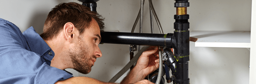
[[[173,84],[189,84],[189,15],[187,14],[189,2],[188,0],[176,0],[174,7],[177,7],[177,13],[174,15],[174,37],[177,44],[174,48],[174,57],[177,62],[176,72],[174,73],[176,79]]]

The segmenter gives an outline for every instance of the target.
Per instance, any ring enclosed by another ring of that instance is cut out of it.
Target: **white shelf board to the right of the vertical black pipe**
[[[195,47],[251,47],[250,31],[190,31],[190,37],[198,38]]]

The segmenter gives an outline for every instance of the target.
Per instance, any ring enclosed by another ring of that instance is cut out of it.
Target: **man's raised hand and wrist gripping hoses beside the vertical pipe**
[[[135,82],[141,84],[144,83],[146,80],[143,79],[159,67],[159,55],[157,51],[158,47],[149,47],[145,52],[143,52],[140,55],[136,66],[120,84],[130,84]]]

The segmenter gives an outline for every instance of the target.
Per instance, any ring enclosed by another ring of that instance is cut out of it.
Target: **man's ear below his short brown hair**
[[[77,29],[75,28],[74,24],[71,22],[68,22],[63,27],[64,35],[66,40],[69,43],[76,42],[76,37],[78,37]]]

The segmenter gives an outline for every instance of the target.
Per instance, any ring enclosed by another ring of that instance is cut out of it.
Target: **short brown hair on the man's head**
[[[90,26],[92,19],[95,19],[103,31],[104,23],[101,15],[90,10],[89,7],[80,5],[76,2],[61,3],[48,14],[44,23],[43,33],[40,35],[44,40],[51,40],[56,37],[67,22],[71,22],[83,34],[85,28]]]

